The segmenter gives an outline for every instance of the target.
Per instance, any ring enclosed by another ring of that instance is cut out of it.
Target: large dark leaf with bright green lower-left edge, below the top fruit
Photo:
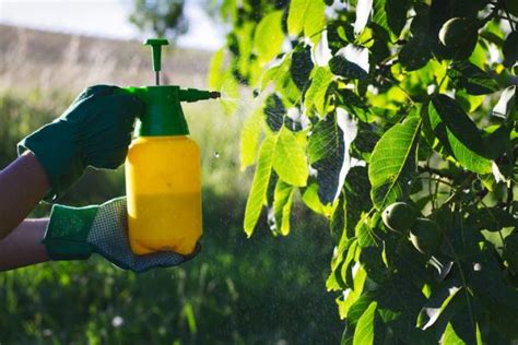
[[[457,102],[446,95],[436,95],[428,105],[432,129],[438,140],[451,148],[455,158],[468,170],[491,172],[491,160],[482,156],[481,133]]]

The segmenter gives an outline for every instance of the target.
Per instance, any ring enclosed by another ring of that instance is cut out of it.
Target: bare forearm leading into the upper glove
[[[22,223],[49,188],[44,168],[31,152],[0,171],[0,240]]]

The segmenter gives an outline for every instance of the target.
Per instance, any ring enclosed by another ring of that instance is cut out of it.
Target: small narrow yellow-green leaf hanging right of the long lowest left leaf
[[[273,215],[275,221],[275,233],[283,236],[290,234],[290,215],[292,212],[293,195],[295,189],[281,179],[275,185],[273,192]]]

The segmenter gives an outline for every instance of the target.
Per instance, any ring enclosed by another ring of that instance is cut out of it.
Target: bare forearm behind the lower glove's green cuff
[[[0,271],[48,261],[42,239],[48,219],[25,219],[8,237],[0,240]]]

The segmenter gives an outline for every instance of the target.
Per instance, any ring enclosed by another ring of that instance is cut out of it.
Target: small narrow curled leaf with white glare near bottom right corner
[[[456,279],[443,284],[423,306],[423,309],[417,317],[417,326],[422,330],[433,326],[440,318],[446,307],[448,307],[450,301],[461,289],[461,285]]]

